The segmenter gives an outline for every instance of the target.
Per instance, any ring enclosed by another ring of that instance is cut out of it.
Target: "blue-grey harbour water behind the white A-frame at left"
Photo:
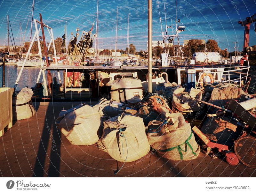
[[[5,87],[14,87],[15,81],[18,77],[21,68],[14,67],[14,65],[5,65]],[[37,76],[39,74],[40,67],[24,67],[20,81],[17,86],[17,90],[28,86],[31,88],[36,85]],[[58,77],[57,71],[51,71],[52,77]],[[45,73],[47,74],[47,73]],[[0,67],[0,87],[2,87],[2,75],[3,66]],[[60,71],[61,81],[63,82],[63,71]],[[58,79],[58,78],[57,78]],[[39,83],[43,82],[43,76],[41,75]]]

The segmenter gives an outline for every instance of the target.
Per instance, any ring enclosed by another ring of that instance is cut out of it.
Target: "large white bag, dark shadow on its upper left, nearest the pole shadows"
[[[56,120],[58,129],[73,145],[92,145],[96,143],[103,130],[104,116],[100,105],[78,105],[61,111]]]

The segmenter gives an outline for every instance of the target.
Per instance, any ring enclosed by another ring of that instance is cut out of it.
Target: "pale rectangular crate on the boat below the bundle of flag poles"
[[[66,88],[66,98],[90,98],[92,95],[91,88]]]

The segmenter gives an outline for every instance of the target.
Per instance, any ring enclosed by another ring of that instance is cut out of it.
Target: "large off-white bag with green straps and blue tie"
[[[169,160],[192,160],[200,146],[189,123],[181,113],[163,113],[161,121],[148,123],[148,141],[161,157]]]

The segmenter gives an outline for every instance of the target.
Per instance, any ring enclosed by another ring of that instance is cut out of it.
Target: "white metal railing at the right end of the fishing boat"
[[[200,85],[201,83],[204,83],[202,79],[202,81],[200,81],[201,77],[203,74],[212,74],[213,77],[214,77],[214,74],[224,74],[226,73],[225,75],[228,75],[228,79],[227,80],[217,80],[217,81],[214,81],[214,82],[228,82],[230,83],[231,81],[236,81],[236,80],[239,80],[239,84],[241,86],[241,80],[245,78],[245,83],[247,81],[247,77],[248,77],[248,74],[249,74],[249,69],[250,69],[250,66],[239,66],[239,67],[236,67],[236,66],[228,66],[228,67],[225,67],[225,68],[238,68],[238,69],[235,69],[235,70],[226,70],[226,71],[215,71],[215,72],[200,72],[199,73],[199,76],[198,76],[198,80],[197,80],[197,84],[196,84],[196,88],[198,87],[198,85]],[[242,71],[244,70],[247,70],[246,73],[242,73]],[[235,75],[237,73],[234,73],[234,74],[231,74],[230,72],[240,72],[240,75],[239,75],[239,78],[235,78],[235,79],[231,79],[230,78],[230,75]],[[242,76],[242,74],[245,74],[244,76]],[[214,78],[213,78],[214,79]]]

